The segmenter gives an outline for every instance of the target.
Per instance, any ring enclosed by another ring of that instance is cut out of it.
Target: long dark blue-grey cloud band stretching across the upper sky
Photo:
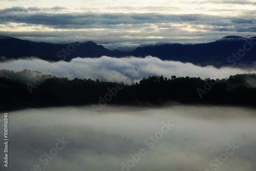
[[[55,7],[62,9],[62,7]],[[54,10],[56,10],[54,8]],[[2,18],[12,18],[4,9],[0,11]],[[52,9],[53,10],[53,9]],[[37,11],[40,13],[19,13],[16,23],[27,23],[45,25],[52,28],[109,28],[111,25],[135,25],[135,24],[168,24],[168,23],[189,23],[189,24],[210,24],[216,26],[231,26],[233,24],[255,23],[252,16],[223,17],[205,14],[160,14],[160,13],[44,13],[39,8],[24,9],[24,12]],[[7,24],[8,20],[1,21]],[[126,26],[123,26],[126,27]]]

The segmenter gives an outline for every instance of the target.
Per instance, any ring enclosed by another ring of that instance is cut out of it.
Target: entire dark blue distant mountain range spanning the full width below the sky
[[[6,56],[7,58],[37,56],[44,60],[57,61],[65,59],[69,61],[76,57],[100,57],[103,55],[111,57],[123,57],[127,55],[145,57],[151,55],[162,60],[216,65],[216,63],[228,64],[227,58],[233,53],[238,53],[240,49],[242,49],[240,53],[245,52],[243,51],[244,45],[246,42],[250,41],[256,42],[256,37],[244,38],[239,36],[226,36],[207,44],[165,44],[139,47],[131,52],[121,52],[118,50],[111,51],[92,41],[83,42],[81,44],[78,42],[71,44],[52,44],[0,36],[0,56]],[[251,49],[246,51],[245,56],[237,60],[237,62],[256,61],[256,45],[253,44],[251,46],[246,46],[246,48]],[[232,59],[233,58],[230,58],[230,60]]]

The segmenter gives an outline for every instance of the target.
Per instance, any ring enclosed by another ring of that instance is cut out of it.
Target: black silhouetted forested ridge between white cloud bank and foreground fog
[[[225,79],[152,76],[133,85],[92,79],[47,78],[29,91],[28,84],[0,77],[1,111],[49,106],[96,104],[219,104],[256,106],[256,74]],[[31,88],[31,87],[30,87]]]

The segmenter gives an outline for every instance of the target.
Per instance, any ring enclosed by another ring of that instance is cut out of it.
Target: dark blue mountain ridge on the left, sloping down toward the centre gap
[[[123,53],[117,50],[111,51],[92,41],[52,44],[0,36],[0,56],[6,56],[7,58],[37,56],[45,60],[58,61],[65,59],[69,61],[76,57],[100,57],[103,55],[121,56]]]

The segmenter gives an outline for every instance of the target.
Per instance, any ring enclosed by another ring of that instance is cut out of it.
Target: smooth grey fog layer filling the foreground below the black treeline
[[[1,170],[254,171],[255,116],[249,108],[184,105],[10,112],[9,167]]]

